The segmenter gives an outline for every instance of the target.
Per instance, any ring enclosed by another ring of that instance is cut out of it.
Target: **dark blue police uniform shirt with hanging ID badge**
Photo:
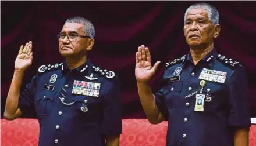
[[[166,63],[162,87],[155,93],[169,121],[166,145],[233,145],[236,127],[251,126],[247,93],[243,66],[215,49],[197,65],[190,53]]]

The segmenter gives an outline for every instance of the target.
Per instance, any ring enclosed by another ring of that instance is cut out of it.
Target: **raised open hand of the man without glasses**
[[[138,52],[136,52],[136,66],[135,66],[135,76],[137,82],[147,82],[155,74],[160,61],[151,65],[150,50],[144,45],[138,47]]]

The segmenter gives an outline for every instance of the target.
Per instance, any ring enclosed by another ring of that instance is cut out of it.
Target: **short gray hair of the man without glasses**
[[[208,3],[196,3],[194,5],[191,5],[189,8],[187,8],[186,13],[185,13],[185,17],[184,17],[184,22],[186,23],[186,17],[187,17],[187,13],[191,10],[191,9],[204,9],[207,12],[207,16],[208,19],[212,22],[213,25],[219,24],[219,12],[218,10],[208,4]]]

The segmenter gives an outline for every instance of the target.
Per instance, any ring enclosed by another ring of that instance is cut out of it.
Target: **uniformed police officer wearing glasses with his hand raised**
[[[94,26],[83,17],[67,19],[58,35],[63,63],[41,65],[20,87],[32,64],[32,42],[20,47],[4,117],[36,111],[39,145],[119,145],[122,133],[119,79],[115,72],[92,64]]]

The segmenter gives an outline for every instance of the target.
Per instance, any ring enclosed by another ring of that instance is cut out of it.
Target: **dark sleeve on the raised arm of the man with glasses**
[[[35,113],[34,95],[37,89],[37,76],[35,75],[19,97],[18,107],[22,111],[22,116],[31,116]]]

